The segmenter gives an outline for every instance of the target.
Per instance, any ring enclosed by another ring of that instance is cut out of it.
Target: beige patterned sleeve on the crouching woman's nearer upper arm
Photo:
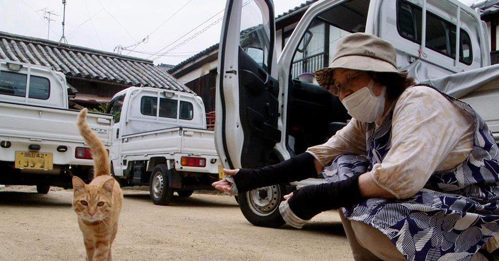
[[[416,86],[397,100],[392,147],[371,178],[397,199],[420,191],[436,170],[451,169],[471,153],[473,117],[436,90]]]

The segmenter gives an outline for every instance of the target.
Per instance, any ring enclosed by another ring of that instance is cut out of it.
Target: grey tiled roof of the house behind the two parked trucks
[[[52,67],[67,76],[193,93],[151,60],[0,32],[0,58]]]

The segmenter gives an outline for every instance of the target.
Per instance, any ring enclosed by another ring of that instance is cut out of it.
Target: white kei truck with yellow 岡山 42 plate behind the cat
[[[89,181],[93,161],[68,109],[66,77],[48,67],[0,60],[0,184],[71,187],[71,173]],[[87,122],[110,149],[112,117]]]

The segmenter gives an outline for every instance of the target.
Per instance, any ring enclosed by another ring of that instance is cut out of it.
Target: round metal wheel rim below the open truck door
[[[251,211],[259,216],[272,214],[279,206],[281,197],[277,185],[252,190],[248,192],[247,196]]]

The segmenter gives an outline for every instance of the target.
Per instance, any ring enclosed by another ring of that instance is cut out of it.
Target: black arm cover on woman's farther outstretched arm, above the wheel
[[[240,169],[234,175],[239,193],[256,188],[317,176],[314,157],[304,152],[280,163],[258,169]]]

